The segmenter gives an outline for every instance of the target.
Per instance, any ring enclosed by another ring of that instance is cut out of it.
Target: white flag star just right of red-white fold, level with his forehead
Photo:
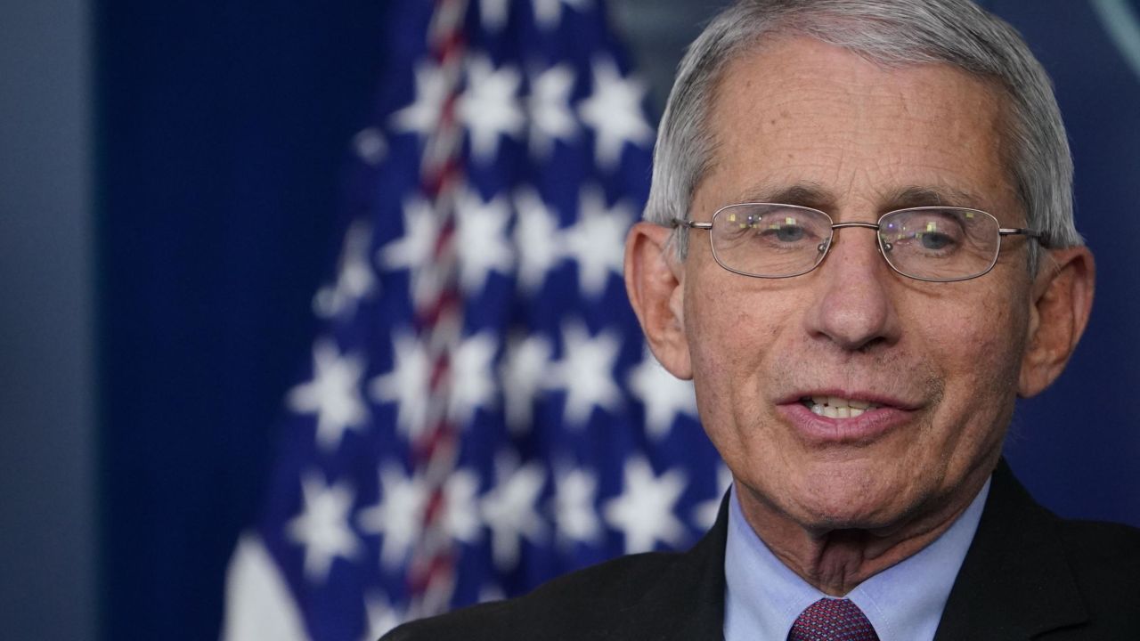
[[[473,56],[467,63],[467,89],[459,97],[457,113],[471,136],[475,160],[494,160],[502,136],[522,133],[527,117],[518,100],[521,82],[518,70],[506,65],[495,70],[486,56]]]

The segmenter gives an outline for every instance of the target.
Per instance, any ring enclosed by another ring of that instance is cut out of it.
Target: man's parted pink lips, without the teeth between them
[[[829,419],[815,414],[800,403],[800,399],[812,396],[861,399],[880,405],[880,407],[868,409],[854,419]],[[777,403],[776,409],[803,440],[811,445],[823,446],[861,445],[874,441],[909,423],[918,406],[874,393],[814,391],[783,399]]]

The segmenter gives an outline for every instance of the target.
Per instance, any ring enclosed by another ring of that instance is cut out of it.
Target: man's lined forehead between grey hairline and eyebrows
[[[726,204],[799,189],[819,201],[806,204],[888,208],[928,193],[997,214],[1016,206],[1000,96],[950,65],[888,67],[808,38],[769,42],[718,79],[698,194]]]

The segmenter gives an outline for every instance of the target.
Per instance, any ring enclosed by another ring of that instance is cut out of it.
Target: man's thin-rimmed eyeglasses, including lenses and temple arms
[[[673,227],[707,229],[712,258],[728,271],[757,278],[790,278],[815,269],[836,229],[878,232],[879,251],[891,269],[918,281],[977,278],[997,262],[1003,236],[1041,238],[1033,229],[1003,228],[976,209],[919,206],[887,212],[878,222],[833,222],[826,213],[779,203],[720,208],[710,222],[674,219]]]

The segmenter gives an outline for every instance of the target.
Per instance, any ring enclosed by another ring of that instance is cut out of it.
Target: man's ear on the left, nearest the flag
[[[684,265],[673,229],[638,222],[626,238],[626,292],[653,356],[678,379],[693,378],[684,318]]]

